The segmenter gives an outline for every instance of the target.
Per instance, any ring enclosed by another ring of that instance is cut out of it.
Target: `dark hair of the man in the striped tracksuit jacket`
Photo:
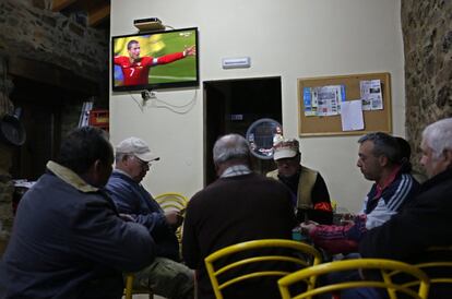
[[[365,141],[373,142],[372,154],[374,156],[385,156],[392,164],[401,163],[401,151],[395,137],[383,132],[376,132],[361,136],[358,143],[362,144]]]

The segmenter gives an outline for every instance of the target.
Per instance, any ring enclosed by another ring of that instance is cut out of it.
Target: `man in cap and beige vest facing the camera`
[[[283,182],[292,191],[298,222],[307,219],[332,224],[333,210],[325,181],[319,171],[300,165],[301,153],[297,140],[283,140],[273,146],[277,169],[266,174]]]

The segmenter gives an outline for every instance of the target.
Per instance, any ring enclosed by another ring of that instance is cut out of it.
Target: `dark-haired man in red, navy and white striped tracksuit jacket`
[[[374,181],[362,211],[344,226],[301,224],[301,230],[309,234],[316,244],[333,254],[357,252],[362,234],[397,214],[418,187],[395,137],[381,132],[369,133],[358,143],[357,166],[366,179]]]

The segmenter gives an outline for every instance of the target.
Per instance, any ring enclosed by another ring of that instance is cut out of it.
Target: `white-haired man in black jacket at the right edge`
[[[427,249],[452,244],[452,118],[428,125],[423,132],[420,147],[420,164],[429,179],[420,186],[412,204],[364,236],[359,244],[364,258],[408,263],[447,259]],[[452,260],[448,258],[448,261]],[[435,276],[438,273],[428,274]],[[452,276],[452,273],[448,275]],[[450,284],[432,285],[430,298],[452,298],[452,287]]]

